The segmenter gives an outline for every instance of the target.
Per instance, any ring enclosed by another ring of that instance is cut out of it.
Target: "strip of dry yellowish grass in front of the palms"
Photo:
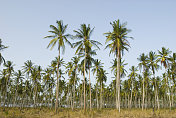
[[[102,109],[84,113],[80,109],[59,109],[59,113],[55,114],[54,109],[48,108],[26,108],[21,111],[19,108],[6,108],[5,111],[0,108],[0,118],[176,118],[176,110],[161,109],[153,112],[147,109],[142,112],[141,109],[122,109],[118,113],[115,109]]]

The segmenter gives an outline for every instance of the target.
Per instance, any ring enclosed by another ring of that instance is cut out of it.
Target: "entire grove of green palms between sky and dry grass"
[[[138,65],[125,69],[127,63],[122,59],[124,51],[130,47],[130,29],[120,20],[110,23],[112,31],[104,33],[106,48],[114,54],[111,71],[114,80],[106,85],[108,79],[104,64],[95,59],[97,49],[102,44],[91,39],[94,28],[81,24],[74,34],[67,34],[63,21],[50,25],[51,39],[48,48],[58,48],[58,57],[50,65],[42,68],[31,60],[24,62],[21,70],[14,70],[12,61],[5,61],[1,51],[8,48],[0,39],[0,102],[4,107],[48,107],[64,108],[174,108],[176,93],[176,53],[162,47],[158,52],[142,53],[137,58]],[[71,43],[69,39],[77,42]],[[67,44],[67,45],[66,45]],[[75,56],[65,62],[60,52],[65,46],[76,48]],[[105,48],[105,49],[106,49]],[[108,54],[107,54],[108,55]],[[156,76],[158,70],[164,73]],[[96,78],[92,84],[90,73]],[[65,78],[67,75],[68,78]],[[87,77],[86,77],[87,75]],[[121,78],[128,79],[122,81]]]

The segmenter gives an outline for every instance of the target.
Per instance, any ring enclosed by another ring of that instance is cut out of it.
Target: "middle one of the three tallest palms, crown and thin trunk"
[[[85,68],[86,68],[86,58],[87,58],[87,50],[91,49],[92,46],[95,46],[96,48],[100,49],[98,45],[101,45],[98,41],[90,40],[90,37],[92,35],[94,28],[91,29],[90,25],[86,26],[86,24],[81,24],[81,28],[78,30],[74,30],[76,33],[73,38],[79,39],[80,41],[74,43],[74,48],[76,49],[76,54],[80,54],[84,52],[84,111],[86,110],[86,99],[85,99]]]

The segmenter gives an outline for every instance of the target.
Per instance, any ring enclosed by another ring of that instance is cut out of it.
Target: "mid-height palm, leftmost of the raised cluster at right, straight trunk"
[[[147,57],[147,55],[145,55],[144,53],[142,53],[140,56],[139,56],[139,58],[137,58],[138,59],[138,61],[140,62],[139,64],[138,64],[138,66],[139,66],[139,69],[141,70],[142,68],[143,68],[143,98],[142,98],[142,110],[144,109],[144,98],[145,98],[145,91],[144,91],[144,89],[145,89],[145,83],[144,83],[144,81],[145,81],[145,76],[144,76],[144,74],[145,74],[145,72],[146,72],[146,70],[148,69],[148,57]]]

